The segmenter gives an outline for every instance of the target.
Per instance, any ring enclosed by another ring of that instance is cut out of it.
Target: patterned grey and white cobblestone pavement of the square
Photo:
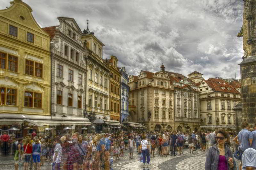
[[[134,151],[133,159],[129,158],[129,151],[124,151],[124,156],[120,157],[120,160],[113,158],[113,170],[204,170],[204,162],[206,152],[196,150],[194,154],[189,153],[189,149],[184,149],[184,153],[179,156],[168,155],[160,157],[155,155],[154,158],[150,158],[150,165],[143,166],[139,161],[140,155]],[[0,157],[1,158],[1,157]],[[23,163],[22,163],[23,164]],[[23,165],[20,164],[19,170],[23,170]],[[236,164],[240,162],[236,160]],[[6,160],[0,159],[0,170],[14,170],[14,160],[12,157],[7,157]],[[45,162],[44,166],[41,166],[41,170],[51,170],[51,162]]]

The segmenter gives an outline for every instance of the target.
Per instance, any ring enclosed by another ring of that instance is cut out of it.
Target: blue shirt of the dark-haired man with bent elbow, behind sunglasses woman
[[[242,129],[238,135],[238,141],[239,141],[239,148],[242,151],[245,151],[245,149],[250,148],[250,142],[249,139],[253,139],[252,133],[247,129]]]

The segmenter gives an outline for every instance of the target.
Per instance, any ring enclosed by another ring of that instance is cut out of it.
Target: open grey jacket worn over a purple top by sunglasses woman
[[[207,151],[204,169],[205,170],[218,170],[219,155],[220,155],[220,151],[217,148],[217,144],[210,147]],[[227,147],[225,147],[225,157],[227,160],[227,164],[228,164],[229,157],[233,159],[234,167],[232,168],[232,170],[236,170],[235,158],[233,157],[231,150]],[[228,164],[228,170],[231,170],[231,168],[229,167],[229,164]]]

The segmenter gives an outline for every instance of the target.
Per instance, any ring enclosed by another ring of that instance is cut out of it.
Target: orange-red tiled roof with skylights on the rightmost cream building
[[[205,80],[205,82],[212,88],[213,91],[240,94],[240,92],[238,92],[232,85],[228,84],[228,82],[226,82],[225,80],[209,78],[208,80]],[[225,89],[222,89],[221,87],[225,87]],[[230,87],[230,90],[228,90],[228,87]]]

